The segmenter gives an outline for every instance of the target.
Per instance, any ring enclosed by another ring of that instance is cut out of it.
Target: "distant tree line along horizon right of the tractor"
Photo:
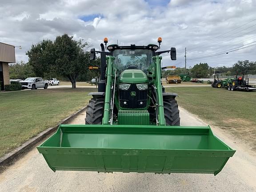
[[[199,63],[194,65],[192,68],[175,68],[174,70],[163,71],[163,76],[176,75],[180,73],[187,73],[192,78],[209,78],[214,74],[214,71],[223,76],[233,76],[238,73],[244,72],[245,75],[255,75],[256,74],[256,62],[255,61],[237,61],[232,67],[210,67],[207,63]]]

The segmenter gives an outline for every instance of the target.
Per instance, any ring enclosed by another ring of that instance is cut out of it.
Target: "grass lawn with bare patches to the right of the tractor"
[[[173,87],[179,105],[214,126],[243,139],[256,150],[256,92],[212,87]]]

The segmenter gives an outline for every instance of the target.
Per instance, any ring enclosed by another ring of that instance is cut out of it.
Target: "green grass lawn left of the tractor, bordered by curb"
[[[87,105],[93,88],[0,93],[0,156]]]

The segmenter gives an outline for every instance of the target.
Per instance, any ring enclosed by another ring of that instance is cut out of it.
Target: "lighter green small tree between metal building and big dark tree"
[[[26,79],[28,77],[35,76],[33,67],[30,63],[24,63],[24,61],[17,62],[9,66],[10,79]]]

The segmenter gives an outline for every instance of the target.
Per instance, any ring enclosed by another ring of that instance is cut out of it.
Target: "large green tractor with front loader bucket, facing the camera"
[[[84,125],[60,125],[38,147],[56,170],[97,172],[219,173],[235,150],[209,126],[180,126],[177,94],[161,84],[162,40],[146,46],[108,45],[100,53],[98,92],[89,93]],[[107,51],[105,50],[107,49]]]

